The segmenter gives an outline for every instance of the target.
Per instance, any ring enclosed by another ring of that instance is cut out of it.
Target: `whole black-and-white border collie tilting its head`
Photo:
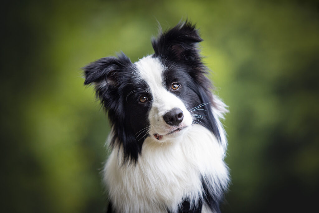
[[[229,183],[226,105],[211,93],[189,21],[160,32],[154,54],[123,53],[84,67],[108,113],[108,212],[220,212]]]

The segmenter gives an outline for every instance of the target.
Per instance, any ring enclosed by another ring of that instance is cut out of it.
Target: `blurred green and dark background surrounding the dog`
[[[319,190],[319,4],[11,1],[1,6],[1,212],[103,212],[109,126],[81,67],[182,18],[230,113],[223,212],[309,212]]]

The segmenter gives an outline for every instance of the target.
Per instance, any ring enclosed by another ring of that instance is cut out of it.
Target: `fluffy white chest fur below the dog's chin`
[[[122,151],[115,148],[104,170],[110,199],[118,212],[176,212],[182,199],[202,196],[202,176],[211,180],[210,190],[226,188],[225,149],[226,141],[200,125],[175,141],[147,138],[137,164],[122,165]]]

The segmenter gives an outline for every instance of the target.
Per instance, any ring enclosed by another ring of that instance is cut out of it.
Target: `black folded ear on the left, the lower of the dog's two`
[[[108,84],[116,86],[118,82],[118,73],[123,67],[131,65],[130,59],[123,53],[116,57],[100,58],[97,61],[86,65],[84,70],[85,81],[84,84]]]

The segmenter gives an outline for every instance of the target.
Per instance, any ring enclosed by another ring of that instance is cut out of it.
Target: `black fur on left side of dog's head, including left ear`
[[[87,65],[84,70],[84,84],[96,83],[96,95],[112,123],[114,137],[111,147],[117,141],[124,150],[124,161],[136,162],[145,140],[142,137],[136,138],[136,133],[149,125],[145,115],[150,107],[149,104],[139,104],[137,99],[139,95],[148,93],[147,84],[135,77],[136,67],[124,54],[118,58],[101,58]],[[100,86],[106,82],[109,83]],[[133,90],[137,92],[129,94]]]

